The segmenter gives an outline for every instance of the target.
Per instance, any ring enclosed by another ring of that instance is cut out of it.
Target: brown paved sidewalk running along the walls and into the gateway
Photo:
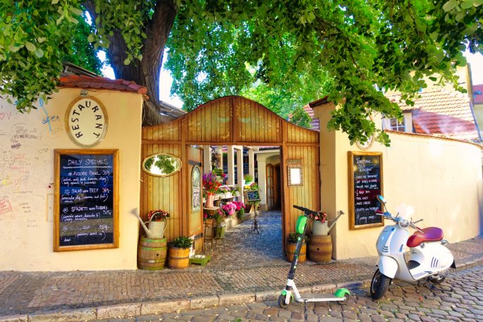
[[[183,271],[0,272],[0,316],[169,299],[196,299],[234,293],[262,294],[280,290],[290,263],[281,254],[281,216],[260,216],[262,231],[250,233],[245,221],[218,242],[208,266]],[[483,259],[483,237],[449,245],[456,264]],[[375,257],[298,266],[299,288],[372,278]],[[220,300],[221,302],[221,300]],[[144,305],[144,304],[143,304]],[[1,321],[1,319],[0,319]]]

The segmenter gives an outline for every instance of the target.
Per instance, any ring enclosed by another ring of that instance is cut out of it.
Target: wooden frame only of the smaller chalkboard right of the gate
[[[349,229],[365,229],[384,226],[384,217],[381,218],[380,223],[356,224],[355,220],[355,190],[354,190],[354,156],[376,156],[379,157],[379,193],[384,194],[384,172],[383,160],[381,152],[367,152],[367,151],[348,151],[348,187],[349,187]],[[356,165],[357,166],[357,165]],[[374,199],[375,197],[373,197]],[[382,206],[380,208],[382,210]]]

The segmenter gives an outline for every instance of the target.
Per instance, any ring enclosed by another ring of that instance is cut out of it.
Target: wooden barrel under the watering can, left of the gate
[[[137,246],[137,267],[149,271],[163,269],[166,261],[166,238],[141,237]]]

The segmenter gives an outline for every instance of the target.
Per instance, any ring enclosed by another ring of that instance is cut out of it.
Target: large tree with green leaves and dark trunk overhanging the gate
[[[458,87],[452,68],[461,51],[483,52],[483,0],[87,0],[94,46],[107,48],[116,77],[148,87],[147,123],[159,122],[159,70],[171,35],[176,90],[181,96],[240,92],[257,80],[274,88],[325,73],[334,81],[329,100],[340,106],[329,128],[365,141],[376,130],[367,116],[401,116],[377,88],[412,93],[438,74]],[[18,109],[54,90],[66,28],[78,22],[75,0],[0,3],[1,92]],[[176,23],[175,23],[176,18]],[[174,24],[174,28],[173,27]],[[184,55],[185,58],[180,58]],[[181,65],[183,64],[183,66]],[[248,66],[248,68],[247,68]],[[188,85],[188,86],[187,86]],[[374,85],[377,85],[375,87]],[[291,85],[288,85],[291,86]],[[302,88],[295,85],[293,89]],[[389,138],[379,131],[379,140]]]

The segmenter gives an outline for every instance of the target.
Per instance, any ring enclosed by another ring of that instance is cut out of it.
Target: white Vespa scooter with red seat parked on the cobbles
[[[387,225],[377,239],[377,261],[378,269],[374,273],[371,282],[372,299],[380,299],[389,289],[393,278],[405,282],[416,282],[427,278],[432,283],[442,283],[446,278],[444,272],[448,268],[456,268],[453,254],[444,245],[448,244],[443,239],[443,230],[436,227],[417,228],[412,222],[414,209],[411,206],[401,205],[398,214],[393,217],[386,209],[386,200],[377,196],[379,202],[386,210],[376,211],[380,216],[391,219],[396,224]],[[410,235],[407,228],[417,230]],[[404,257],[404,246],[410,248],[410,260],[406,263]]]

